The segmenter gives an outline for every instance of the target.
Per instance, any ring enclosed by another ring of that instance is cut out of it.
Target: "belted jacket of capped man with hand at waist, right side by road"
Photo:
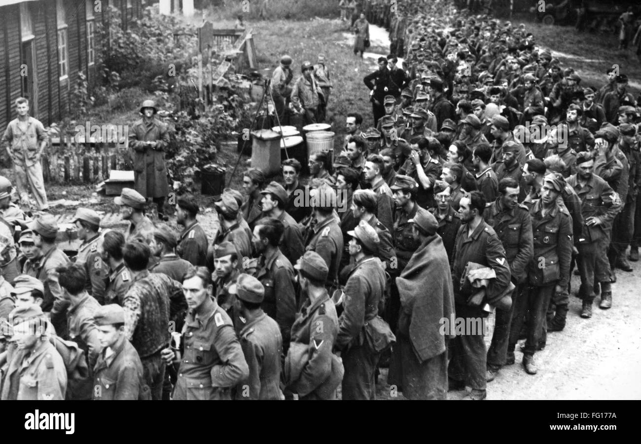
[[[583,232],[575,234],[576,241],[590,243],[601,239],[610,239],[612,221],[621,210],[619,194],[610,188],[608,182],[595,174],[592,174],[592,177],[583,186],[579,184],[578,175],[570,176],[567,179],[567,184],[574,189],[583,203],[581,207]],[[585,219],[592,216],[601,219],[603,223],[597,226],[586,225]]]

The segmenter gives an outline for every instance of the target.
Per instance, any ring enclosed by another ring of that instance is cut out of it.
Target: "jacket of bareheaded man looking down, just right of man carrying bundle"
[[[505,256],[510,262],[512,279],[514,282],[523,282],[534,248],[529,210],[526,205],[520,203],[514,209],[508,210],[501,205],[499,199],[485,208],[483,220],[494,228],[494,232],[503,244]]]

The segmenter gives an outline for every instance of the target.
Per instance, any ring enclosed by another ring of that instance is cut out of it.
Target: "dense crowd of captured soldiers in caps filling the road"
[[[176,232],[146,216],[161,196],[123,189],[126,230],[78,209],[70,260],[56,219],[29,217],[0,178],[1,398],[374,399],[387,367],[406,398],[481,400],[520,338],[537,373],[573,269],[580,317],[597,295],[610,309],[641,236],[626,76],[584,89],[522,26],[408,3],[406,67],[392,51],[365,77],[374,126],[349,113],[308,180],[294,158],[282,183],[244,171],[213,237],[193,196]],[[162,151],[153,114],[140,153]]]

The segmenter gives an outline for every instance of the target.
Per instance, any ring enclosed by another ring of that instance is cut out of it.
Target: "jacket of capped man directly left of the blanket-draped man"
[[[335,348],[345,350],[353,344],[363,345],[363,327],[378,315],[386,280],[378,257],[365,257],[356,262],[345,284],[344,310],[338,319]]]

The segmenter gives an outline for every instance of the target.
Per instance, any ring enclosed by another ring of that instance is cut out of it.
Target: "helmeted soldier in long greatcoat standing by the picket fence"
[[[158,207],[158,218],[165,219],[163,207],[169,193],[165,149],[169,145],[167,126],[156,119],[153,100],[140,107],[142,119],[129,128],[129,146],[133,149],[135,189],[145,198],[152,198]]]

